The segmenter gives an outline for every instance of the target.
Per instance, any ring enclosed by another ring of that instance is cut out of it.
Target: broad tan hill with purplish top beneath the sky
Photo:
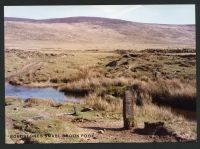
[[[7,48],[143,49],[195,47],[195,25],[98,17],[4,18]]]

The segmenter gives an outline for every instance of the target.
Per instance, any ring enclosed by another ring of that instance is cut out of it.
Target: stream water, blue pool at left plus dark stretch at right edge
[[[30,88],[24,86],[13,86],[9,83],[5,83],[5,96],[17,96],[22,99],[27,98],[44,98],[44,99],[52,99],[56,102],[82,102],[83,97],[75,97],[66,95],[64,92],[60,92],[57,89],[52,87],[46,88]],[[176,115],[184,116],[190,120],[196,120],[196,112],[172,108],[171,111]]]

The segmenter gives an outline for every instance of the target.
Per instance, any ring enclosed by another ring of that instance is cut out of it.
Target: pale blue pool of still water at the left
[[[57,102],[81,102],[83,99],[65,95],[52,87],[30,88],[24,86],[13,86],[5,83],[5,96],[17,96],[22,99],[30,97],[52,99]]]

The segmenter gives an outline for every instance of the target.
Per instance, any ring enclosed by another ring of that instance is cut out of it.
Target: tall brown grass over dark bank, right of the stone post
[[[134,84],[132,90],[138,90],[143,97],[147,97],[148,100],[157,104],[196,110],[196,87],[193,82],[181,82],[179,79],[158,79],[148,83]]]

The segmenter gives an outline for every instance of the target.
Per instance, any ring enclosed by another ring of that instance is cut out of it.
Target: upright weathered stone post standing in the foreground
[[[134,127],[133,94],[129,90],[125,91],[123,100],[123,119],[124,129],[131,129],[131,127]]]

